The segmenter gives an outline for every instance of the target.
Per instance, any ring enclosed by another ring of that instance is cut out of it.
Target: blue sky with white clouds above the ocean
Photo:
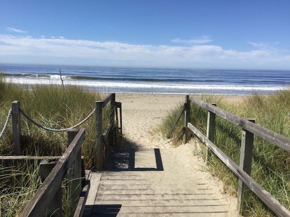
[[[290,70],[290,0],[0,0],[0,62]]]

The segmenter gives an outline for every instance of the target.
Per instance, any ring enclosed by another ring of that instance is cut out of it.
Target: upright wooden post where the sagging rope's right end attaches
[[[96,102],[96,134],[97,134],[97,147],[96,147],[96,161],[95,167],[97,170],[103,169],[104,148],[102,141],[103,134],[103,117],[102,117],[103,102]]]

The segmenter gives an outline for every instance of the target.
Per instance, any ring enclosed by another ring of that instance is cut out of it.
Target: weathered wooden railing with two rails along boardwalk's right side
[[[203,135],[193,124],[190,123],[190,103],[195,103],[208,110],[207,121],[207,136]],[[280,202],[272,197],[262,186],[260,186],[254,179],[251,178],[251,165],[252,165],[252,150],[253,150],[253,137],[254,135],[267,140],[276,146],[290,152],[290,139],[282,136],[274,131],[264,128],[255,124],[252,119],[245,119],[234,115],[224,109],[220,109],[215,104],[204,102],[193,96],[186,96],[186,102],[180,110],[176,122],[180,119],[183,112],[185,114],[184,127],[180,131],[184,132],[184,140],[186,143],[189,140],[188,129],[190,129],[201,141],[203,141],[207,148],[210,149],[238,178],[238,211],[244,214],[248,209],[248,195],[251,189],[273,212],[279,217],[289,217],[290,211],[286,209]],[[235,164],[225,153],[223,153],[212,141],[214,141],[215,131],[215,116],[218,115],[233,124],[242,127],[242,144],[241,144],[241,157],[240,166]],[[167,135],[170,137],[171,132]],[[179,133],[178,137],[180,137]],[[208,155],[206,156],[209,157]],[[207,159],[208,160],[208,159]]]

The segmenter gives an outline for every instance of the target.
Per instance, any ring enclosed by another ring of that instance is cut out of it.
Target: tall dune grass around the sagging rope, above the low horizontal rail
[[[2,99],[0,123],[4,125],[11,103],[20,102],[20,108],[33,121],[52,129],[64,129],[80,123],[94,109],[95,102],[104,96],[90,92],[78,86],[33,85],[31,87],[7,84],[1,89]],[[105,109],[104,119],[109,114]],[[108,109],[109,110],[109,109]],[[82,155],[86,159],[86,167],[94,165],[96,144],[96,124],[93,115],[80,127],[86,129],[86,139],[82,146]],[[104,127],[106,124],[103,124]],[[0,143],[0,155],[13,153],[11,124],[7,128]],[[35,126],[21,115],[21,142],[24,155],[62,155],[66,149],[66,132],[48,131]]]

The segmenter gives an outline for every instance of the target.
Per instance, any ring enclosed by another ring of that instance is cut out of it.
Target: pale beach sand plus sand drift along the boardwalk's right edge
[[[239,103],[244,96],[226,96],[225,100]],[[181,176],[194,176],[199,180],[203,180],[210,185],[216,194],[227,201],[228,216],[239,216],[236,212],[237,199],[230,197],[224,193],[224,186],[220,180],[212,177],[207,172],[206,164],[200,156],[194,155],[196,150],[196,140],[173,148],[170,140],[164,139],[161,135],[156,134],[155,127],[161,123],[168,112],[181,105],[185,101],[185,95],[163,95],[163,94],[116,94],[116,101],[122,102],[122,120],[123,134],[128,140],[127,146],[138,148],[160,148],[171,149],[172,162],[177,162],[176,156],[182,156],[182,166],[172,164],[170,173],[167,176],[170,179],[177,179]],[[174,149],[174,150],[173,150]],[[180,168],[183,168],[180,170]],[[187,171],[184,174],[182,171]],[[190,171],[190,172],[188,172]],[[188,174],[190,173],[190,174]],[[185,178],[185,180],[188,180]],[[184,183],[188,185],[188,183]]]

